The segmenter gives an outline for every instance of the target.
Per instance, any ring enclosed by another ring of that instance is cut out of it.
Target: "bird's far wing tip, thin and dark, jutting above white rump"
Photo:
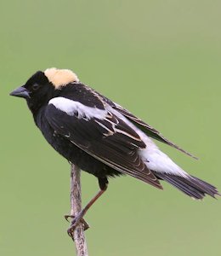
[[[127,111],[127,109],[122,108],[120,105],[118,105],[116,103],[114,103],[114,105],[112,105],[112,108],[115,108],[119,113],[122,113],[122,115],[124,115],[127,119],[129,119],[130,121],[133,122],[133,125],[136,125],[137,127],[139,127],[139,129],[141,131],[144,131],[144,133],[147,136],[152,137],[152,138],[160,141],[161,143],[166,143],[167,145],[172,146],[173,148],[177,148],[179,151],[183,152],[184,154],[190,155],[191,157],[197,159],[194,155],[185,151],[183,148],[180,148],[176,144],[167,140],[167,138],[163,137],[159,131],[156,131],[155,128],[144,123],[144,121],[142,121],[141,119],[134,116],[133,113],[130,113],[129,111]]]

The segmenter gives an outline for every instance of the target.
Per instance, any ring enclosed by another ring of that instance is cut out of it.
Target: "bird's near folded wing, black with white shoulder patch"
[[[140,159],[139,150],[146,147],[144,142],[110,111],[56,97],[48,102],[45,117],[56,133],[94,158],[161,189],[159,180]]]

